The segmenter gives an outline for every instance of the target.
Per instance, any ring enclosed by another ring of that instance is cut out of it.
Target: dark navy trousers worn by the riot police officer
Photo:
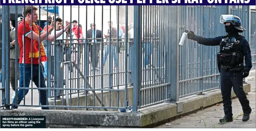
[[[224,71],[221,69],[220,71],[220,89],[223,99],[224,113],[228,116],[233,116],[232,114],[232,101],[231,101],[231,88],[233,86],[233,90],[238,97],[243,113],[251,113],[252,109],[249,106],[249,100],[246,97],[246,94],[243,89],[243,74],[240,72],[234,71]]]

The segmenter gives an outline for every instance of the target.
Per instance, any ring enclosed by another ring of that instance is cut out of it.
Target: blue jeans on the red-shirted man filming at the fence
[[[32,70],[32,76],[31,76],[31,66],[33,66],[33,70]],[[31,77],[33,77],[33,82],[35,83],[35,85],[37,86],[37,88],[39,88],[39,80],[40,80],[40,88],[46,88],[46,84],[45,84],[45,79],[44,79],[44,71],[42,66],[41,67],[41,72],[40,74],[39,72],[39,67],[38,65],[31,65],[31,64],[19,64],[20,67],[20,87],[24,87],[24,83],[25,83],[25,87],[29,87],[30,84],[30,80]],[[25,68],[25,80],[24,80],[24,73],[23,70]],[[39,75],[41,77],[41,79],[39,79]],[[28,93],[29,89],[19,89],[18,90],[18,102],[17,104],[20,104],[20,102],[22,101],[22,99],[24,98],[24,90],[25,90],[25,95]],[[40,103],[41,105],[47,105],[47,90],[45,89],[40,89]],[[16,97],[14,97],[13,102],[12,103],[16,103]],[[14,106],[13,108],[17,109],[17,106]],[[49,109],[48,107],[42,107],[42,109]]]

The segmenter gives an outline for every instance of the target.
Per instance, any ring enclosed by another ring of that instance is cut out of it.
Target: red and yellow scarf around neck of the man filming
[[[25,21],[25,24],[29,25],[29,23],[27,21]],[[32,23],[32,26],[33,26],[33,31],[39,35],[40,31],[38,30],[36,24]],[[37,42],[36,40],[33,40],[33,46],[31,46],[30,44],[30,49],[29,49],[29,58],[31,58],[31,56],[33,58],[38,58],[39,57],[39,50],[37,49],[37,47],[39,47],[39,42]],[[31,48],[32,48],[32,51],[31,52]],[[45,49],[44,49],[44,46],[42,44],[42,42],[40,42],[40,53],[41,53],[41,61],[47,61],[47,56],[46,56],[46,53],[45,53]]]

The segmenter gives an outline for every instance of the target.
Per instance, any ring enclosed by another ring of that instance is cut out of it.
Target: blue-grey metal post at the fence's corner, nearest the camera
[[[141,6],[134,6],[134,44],[133,51],[133,109],[137,112],[140,108],[140,88],[141,88]]]

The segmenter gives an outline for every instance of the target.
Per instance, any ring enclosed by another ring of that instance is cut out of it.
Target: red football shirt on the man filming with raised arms
[[[37,26],[37,28],[39,29],[39,26]],[[40,32],[42,33],[42,31],[44,31],[42,28],[40,28]],[[29,33],[32,32],[32,28],[29,25],[25,24],[25,44],[23,44],[23,35],[24,35],[24,20],[20,23],[20,25],[18,26],[18,43],[20,45],[20,64],[31,64],[31,58],[29,58],[29,52],[30,52],[30,46],[31,46],[31,39],[26,37]],[[33,43],[34,45],[36,45],[36,48],[38,50],[40,50],[40,48],[38,47],[39,44]],[[23,61],[23,45],[25,48],[25,61]],[[33,58],[33,63],[34,65],[38,65],[39,64],[39,57],[38,58]]]

